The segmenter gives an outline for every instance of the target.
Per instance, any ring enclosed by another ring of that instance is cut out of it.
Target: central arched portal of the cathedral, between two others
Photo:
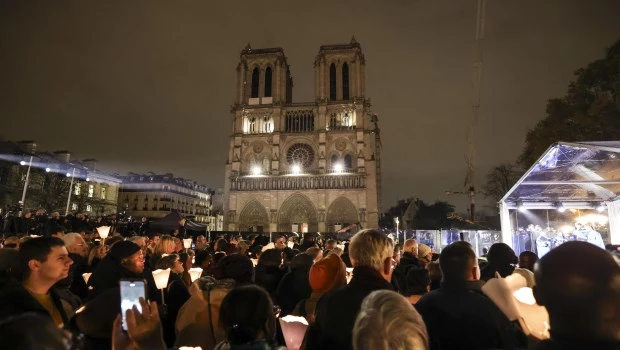
[[[292,225],[299,225],[299,231],[301,231],[303,224],[308,225],[308,232],[319,230],[319,222],[314,205],[308,197],[296,193],[288,197],[280,207],[278,212],[278,231],[290,232]]]

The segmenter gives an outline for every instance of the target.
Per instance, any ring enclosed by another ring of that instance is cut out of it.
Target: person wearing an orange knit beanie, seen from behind
[[[336,254],[332,254],[317,261],[310,268],[310,298],[300,301],[292,315],[303,316],[308,323],[314,323],[316,305],[319,299],[327,292],[338,289],[347,284],[346,265]]]

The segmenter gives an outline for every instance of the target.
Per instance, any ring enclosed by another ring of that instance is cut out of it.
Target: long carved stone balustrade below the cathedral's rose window
[[[233,177],[232,191],[318,190],[365,188],[365,174]]]

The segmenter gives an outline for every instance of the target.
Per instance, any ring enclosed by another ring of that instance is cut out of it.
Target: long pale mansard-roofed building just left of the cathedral
[[[195,181],[173,174],[134,174],[122,177],[118,210],[136,218],[161,218],[172,210],[215,228],[212,198],[214,191]]]

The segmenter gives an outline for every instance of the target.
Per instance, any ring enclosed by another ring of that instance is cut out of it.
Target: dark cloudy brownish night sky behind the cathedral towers
[[[224,182],[235,67],[282,47],[295,102],[321,44],[355,34],[383,135],[384,207],[450,200],[465,175],[475,0],[0,2],[0,136],[112,172]],[[620,38],[618,0],[489,0],[477,183],[511,162],[546,99]]]

